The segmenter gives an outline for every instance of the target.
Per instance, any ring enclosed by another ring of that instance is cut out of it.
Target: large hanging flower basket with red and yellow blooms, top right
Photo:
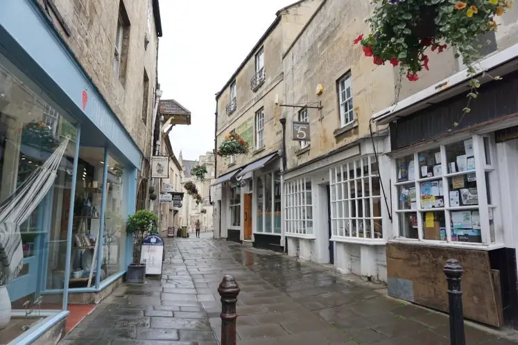
[[[374,64],[400,65],[406,78],[418,80],[417,73],[428,70],[426,48],[442,53],[454,46],[470,73],[481,48],[476,37],[496,30],[495,16],[510,7],[512,0],[372,0],[374,13],[368,19],[371,32],[360,35],[365,56]]]

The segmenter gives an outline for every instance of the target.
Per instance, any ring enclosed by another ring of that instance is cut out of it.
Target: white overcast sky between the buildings
[[[191,125],[171,131],[178,157],[196,160],[214,149],[216,92],[275,19],[295,0],[162,0],[158,80],[162,99],[191,111]],[[225,114],[223,114],[225,115]]]

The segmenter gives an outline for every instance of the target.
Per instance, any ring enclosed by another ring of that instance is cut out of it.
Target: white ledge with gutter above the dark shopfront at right
[[[474,64],[474,69],[477,72],[476,77],[482,76],[486,71],[492,71],[497,69],[497,67],[508,64],[517,57],[518,44],[485,57],[485,59]],[[518,69],[518,63],[516,63],[515,66],[508,66],[508,69],[511,71]],[[510,73],[510,71],[503,72],[503,74]],[[449,76],[449,78],[441,80],[440,82],[435,83],[435,85],[427,87],[426,89],[399,101],[396,105],[386,107],[380,112],[373,114],[372,119],[379,125],[386,125],[387,123],[396,120],[397,117],[407,116],[416,112],[416,108],[420,106],[420,109],[422,109],[428,105],[439,103],[444,99],[451,98],[463,91],[467,91],[470,79],[471,77],[468,76],[467,69],[463,69],[462,71],[455,73],[453,76]],[[484,80],[481,80],[481,84],[491,82],[492,80],[492,78],[486,77]],[[466,87],[466,89],[464,89],[463,86]]]

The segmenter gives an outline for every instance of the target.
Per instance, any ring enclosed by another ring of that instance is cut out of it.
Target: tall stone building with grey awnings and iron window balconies
[[[256,244],[271,242],[275,249],[283,246],[277,154],[282,125],[280,109],[275,105],[283,94],[282,53],[320,2],[297,1],[279,10],[273,24],[216,95],[215,150],[230,132],[236,132],[250,144],[248,154],[225,159],[216,156],[218,178],[213,188],[216,237]],[[268,179],[268,186],[260,182],[257,192],[254,189],[257,179]]]

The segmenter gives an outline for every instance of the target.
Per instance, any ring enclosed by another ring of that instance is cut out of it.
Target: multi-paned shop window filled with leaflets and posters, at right
[[[474,136],[396,159],[399,236],[488,244],[489,232],[494,242],[492,216],[481,217],[494,209],[491,149],[489,137]]]

